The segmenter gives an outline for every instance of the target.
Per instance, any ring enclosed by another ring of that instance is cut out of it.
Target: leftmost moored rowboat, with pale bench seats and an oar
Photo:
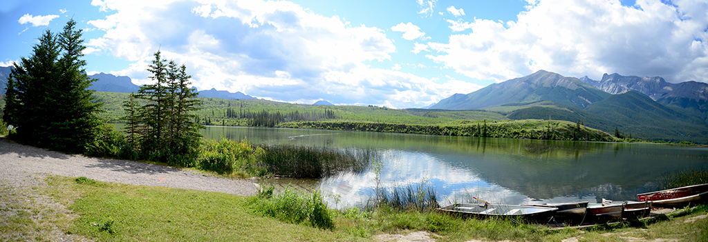
[[[542,221],[558,210],[556,207],[537,207],[527,205],[498,205],[486,203],[457,203],[440,207],[442,212],[463,214],[474,217],[523,217]]]

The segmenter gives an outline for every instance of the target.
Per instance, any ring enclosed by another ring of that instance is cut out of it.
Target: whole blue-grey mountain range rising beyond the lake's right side
[[[661,77],[603,75],[603,80],[537,71],[467,95],[455,94],[430,109],[480,109],[509,119],[582,121],[633,138],[708,143],[708,84],[666,83]]]

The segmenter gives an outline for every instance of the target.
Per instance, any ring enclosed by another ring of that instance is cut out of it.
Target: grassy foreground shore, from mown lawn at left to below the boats
[[[50,177],[47,183],[49,186],[40,188],[40,193],[80,215],[57,226],[67,234],[98,241],[371,241],[377,234],[411,231],[428,231],[437,241],[561,241],[571,237],[578,241],[628,241],[629,237],[706,241],[708,238],[708,219],[696,219],[708,212],[705,205],[652,222],[596,226],[584,231],[550,231],[538,225],[504,220],[462,219],[438,212],[399,212],[387,208],[374,212],[330,210],[334,228],[317,229],[308,223],[292,224],[263,217],[249,202],[254,198],[238,195],[59,176]],[[33,229],[31,222],[22,217],[9,224],[0,228],[21,224]]]

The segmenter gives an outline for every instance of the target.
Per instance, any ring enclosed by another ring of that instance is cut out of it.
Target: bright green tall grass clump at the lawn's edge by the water
[[[284,222],[306,222],[321,229],[334,228],[332,215],[319,191],[307,194],[288,188],[282,193],[273,194],[273,190],[272,186],[265,188],[249,200],[256,212]]]

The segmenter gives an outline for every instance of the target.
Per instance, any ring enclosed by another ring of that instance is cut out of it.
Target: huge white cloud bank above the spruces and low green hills
[[[89,21],[105,34],[87,40],[93,48],[87,51],[132,61],[111,73],[130,76],[136,84],[150,82],[145,70],[160,49],[164,58],[187,66],[200,90],[215,87],[287,102],[423,107],[452,95],[449,90],[477,88],[402,73],[395,69],[401,64],[371,68],[365,61],[390,61],[396,51],[384,30],[351,26],[289,1],[93,4],[110,14]],[[426,39],[416,32],[414,39]]]

